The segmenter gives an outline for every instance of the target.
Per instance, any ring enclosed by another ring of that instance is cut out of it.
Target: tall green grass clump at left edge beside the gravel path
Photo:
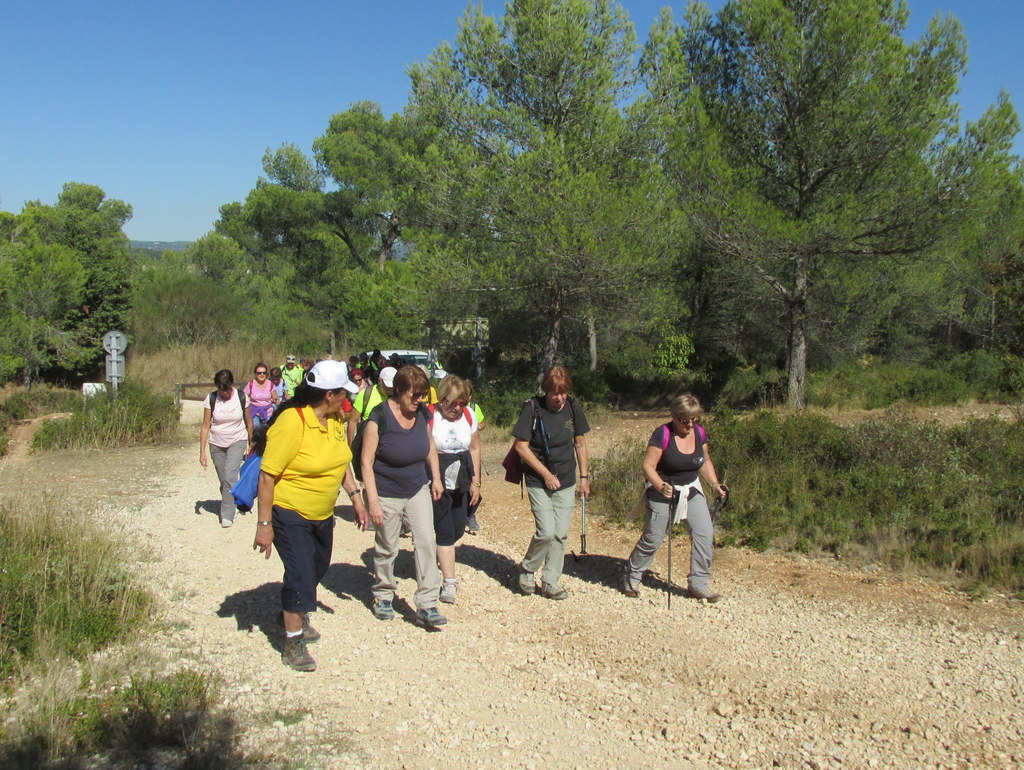
[[[129,633],[148,595],[115,546],[58,501],[0,507],[0,679],[42,650],[76,656]]]

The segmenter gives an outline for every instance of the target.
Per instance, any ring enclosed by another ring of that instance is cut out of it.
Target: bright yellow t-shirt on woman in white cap
[[[281,476],[273,488],[274,505],[318,521],[334,515],[338,489],[351,460],[344,423],[329,417],[325,428],[313,411],[304,407],[288,410],[270,426],[260,470]]]

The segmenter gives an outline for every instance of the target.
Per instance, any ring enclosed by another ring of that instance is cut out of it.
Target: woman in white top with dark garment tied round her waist
[[[437,563],[444,581],[439,599],[455,603],[455,544],[466,531],[471,506],[480,499],[480,436],[473,413],[466,409],[473,390],[468,382],[449,375],[437,386],[431,430],[437,445],[444,494],[434,501]]]

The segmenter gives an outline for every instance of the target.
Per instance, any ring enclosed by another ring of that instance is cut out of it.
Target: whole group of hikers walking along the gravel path
[[[281,368],[260,362],[244,388],[234,387],[227,370],[215,380],[217,390],[205,403],[200,462],[207,466],[209,446],[221,486],[221,526],[231,525],[236,506],[255,507],[253,549],[270,558],[276,548],[284,567],[282,660],[296,671],[316,668],[306,645],[321,635],[309,615],[331,565],[341,489],[351,500],[355,525],[374,530],[374,616],[397,615],[394,563],[399,539],[411,533],[414,619],[428,630],[444,626],[438,605],[454,604],[459,590],[456,545],[480,529],[484,416],[473,402],[472,384],[449,374],[435,389],[426,367],[379,350],[348,362],[328,356],[313,363],[294,355]],[[550,368],[540,389],[523,403],[503,463],[508,480],[525,483],[535,522],[516,585],[525,594],[564,600],[568,592],[560,580],[575,496],[586,501],[591,494],[590,425],[570,395],[572,378],[564,367]],[[700,414],[695,397],[680,396],[672,420],[648,442],[644,530],[624,567],[627,596],[639,595],[666,533],[671,538],[671,527],[685,521],[691,536],[687,593],[709,602],[721,598],[709,584],[713,525],[699,478],[722,500],[728,490],[708,452]],[[251,456],[240,478],[247,448]]]

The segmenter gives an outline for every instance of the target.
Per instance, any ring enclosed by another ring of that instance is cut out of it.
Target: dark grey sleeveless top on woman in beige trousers
[[[377,494],[382,498],[412,498],[428,481],[427,417],[421,407],[412,428],[402,428],[385,400],[370,413],[368,420],[376,423],[380,437],[374,459]]]

